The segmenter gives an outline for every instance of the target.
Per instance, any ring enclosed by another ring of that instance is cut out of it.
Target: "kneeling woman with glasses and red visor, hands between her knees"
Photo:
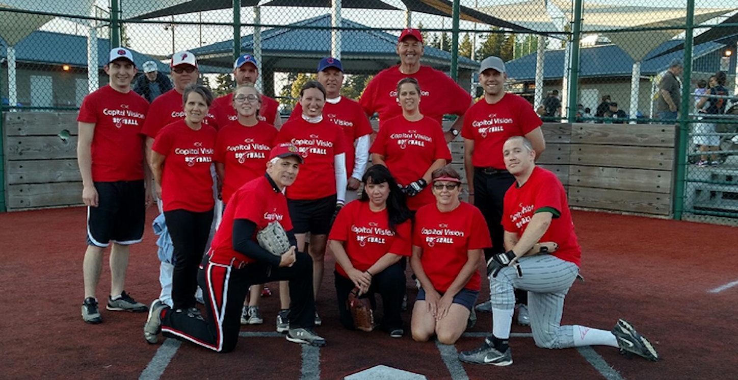
[[[432,173],[435,204],[415,213],[410,266],[421,283],[413,307],[413,339],[453,345],[466,330],[480,290],[483,249],[492,246],[484,216],[459,200],[461,176],[446,166]]]

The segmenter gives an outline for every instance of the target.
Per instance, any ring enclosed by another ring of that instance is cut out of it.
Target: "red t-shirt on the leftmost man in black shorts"
[[[141,128],[148,102],[134,91],[123,94],[105,86],[85,97],[78,122],[93,122],[92,180],[95,182],[143,179]]]

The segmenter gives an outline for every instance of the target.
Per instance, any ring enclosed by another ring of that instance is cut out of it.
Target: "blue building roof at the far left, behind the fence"
[[[7,49],[0,46],[0,57],[7,58]],[[110,41],[97,38],[97,67],[108,64]],[[136,66],[140,69],[144,62],[154,61],[160,72],[169,73],[169,66],[155,58],[131,50]],[[15,61],[23,63],[42,63],[47,65],[69,65],[87,67],[87,37],[57,32],[37,30],[15,45]]]

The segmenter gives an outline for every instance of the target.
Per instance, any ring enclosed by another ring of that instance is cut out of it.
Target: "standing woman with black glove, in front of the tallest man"
[[[420,85],[413,77],[397,83],[402,115],[384,122],[369,150],[372,162],[384,165],[407,194],[407,207],[418,210],[435,201],[427,184],[430,173],[451,162],[441,125],[420,113]]]

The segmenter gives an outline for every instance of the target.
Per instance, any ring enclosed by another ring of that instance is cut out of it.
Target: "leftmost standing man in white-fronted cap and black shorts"
[[[77,117],[77,164],[82,175],[82,201],[87,206],[87,250],[83,260],[85,300],[82,319],[103,322],[95,292],[103,268],[103,252],[110,252],[111,286],[108,310],[146,311],[123,290],[128,246],[143,236],[151,187],[145,186],[146,163],[139,134],[148,102],[131,90],[137,69],[131,51],[110,51],[103,68],[110,84],[85,97]],[[150,183],[150,182],[148,182]]]

